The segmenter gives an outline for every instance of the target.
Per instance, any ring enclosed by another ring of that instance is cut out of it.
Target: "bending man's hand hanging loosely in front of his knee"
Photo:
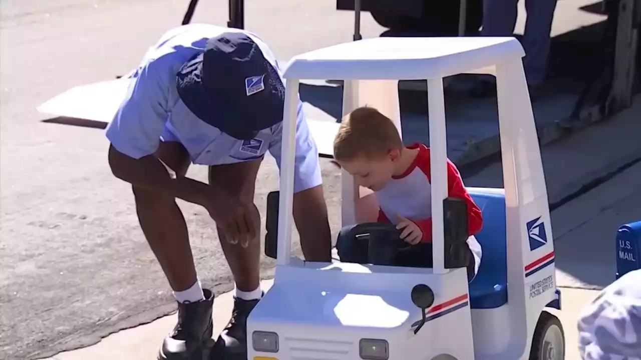
[[[253,202],[243,202],[224,192],[212,189],[203,206],[221,227],[229,243],[247,247],[260,234],[260,213]]]

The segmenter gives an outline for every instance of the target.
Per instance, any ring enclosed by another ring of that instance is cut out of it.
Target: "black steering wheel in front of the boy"
[[[401,230],[391,223],[358,224],[351,229],[349,236],[356,241],[369,241],[368,258],[374,265],[393,265],[399,251],[412,247],[401,239]]]

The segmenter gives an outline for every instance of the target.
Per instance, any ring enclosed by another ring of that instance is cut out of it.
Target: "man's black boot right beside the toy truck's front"
[[[247,360],[247,316],[258,301],[234,298],[231,320],[216,341],[210,359]]]

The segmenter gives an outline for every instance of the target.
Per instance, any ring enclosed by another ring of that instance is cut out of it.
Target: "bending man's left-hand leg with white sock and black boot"
[[[156,156],[175,176],[187,173],[190,160],[180,143],[161,142]],[[140,227],[178,300],[178,323],[165,337],[158,359],[202,359],[212,338],[213,295],[197,281],[185,217],[174,197],[136,186],[133,194]]]

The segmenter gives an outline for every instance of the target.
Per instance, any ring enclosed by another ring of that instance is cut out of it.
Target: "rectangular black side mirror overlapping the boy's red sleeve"
[[[443,200],[444,261],[446,269],[467,267],[470,261],[467,226],[467,203],[448,197]]]

